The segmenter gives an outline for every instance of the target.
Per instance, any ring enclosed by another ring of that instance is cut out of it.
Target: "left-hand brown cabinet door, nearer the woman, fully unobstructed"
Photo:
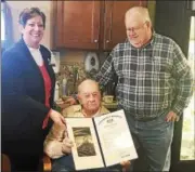
[[[55,44],[61,48],[99,49],[100,1],[56,3],[58,5],[55,35],[60,42],[55,40]]]

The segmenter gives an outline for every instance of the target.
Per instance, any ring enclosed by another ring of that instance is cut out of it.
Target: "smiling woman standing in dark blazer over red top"
[[[51,53],[40,44],[46,15],[25,9],[20,15],[22,39],[2,55],[2,153],[13,171],[37,171],[52,121],[65,125],[53,110],[55,75]]]

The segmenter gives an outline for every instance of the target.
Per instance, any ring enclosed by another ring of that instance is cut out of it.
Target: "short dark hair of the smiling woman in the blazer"
[[[20,24],[23,25],[23,27],[25,27],[27,21],[37,15],[41,16],[43,22],[43,27],[46,27],[46,15],[43,12],[40,11],[39,8],[24,9],[23,12],[20,14]]]

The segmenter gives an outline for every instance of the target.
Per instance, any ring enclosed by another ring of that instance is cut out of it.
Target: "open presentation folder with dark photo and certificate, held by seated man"
[[[93,118],[66,118],[76,170],[109,167],[136,159],[123,110]]]

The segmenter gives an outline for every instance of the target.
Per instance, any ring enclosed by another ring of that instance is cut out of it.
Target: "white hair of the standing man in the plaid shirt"
[[[131,9],[129,9],[126,12],[126,17],[125,21],[130,16],[130,15],[140,15],[140,18],[143,19],[143,22],[150,22],[151,23],[151,17],[150,17],[150,13],[148,10],[146,8],[143,6],[133,6]]]

